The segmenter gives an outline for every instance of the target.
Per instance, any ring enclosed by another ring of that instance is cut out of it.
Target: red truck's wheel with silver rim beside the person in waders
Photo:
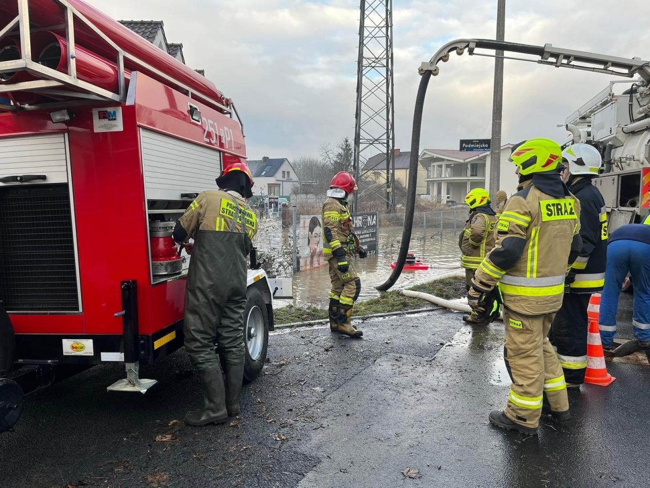
[[[246,344],[246,364],[244,380],[248,383],[257,378],[266,361],[268,348],[268,315],[266,303],[259,290],[246,290],[246,309],[244,310],[244,344]]]

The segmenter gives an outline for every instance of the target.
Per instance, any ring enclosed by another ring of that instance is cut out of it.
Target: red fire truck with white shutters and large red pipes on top
[[[3,431],[23,391],[81,368],[125,364],[109,390],[155,383],[138,367],[183,345],[174,221],[246,149],[213,83],[81,0],[0,3],[0,99]],[[251,267],[248,381],[292,292]]]

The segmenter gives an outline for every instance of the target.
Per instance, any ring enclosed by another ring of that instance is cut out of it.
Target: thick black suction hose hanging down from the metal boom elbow
[[[429,70],[422,74],[420,86],[417,88],[417,97],[415,98],[415,110],[413,111],[413,131],[411,132],[411,161],[409,163],[408,173],[408,192],[406,193],[406,215],[404,216],[404,231],[402,232],[402,243],[400,244],[400,254],[397,256],[395,269],[391,276],[380,286],[379,291],[386,291],[391,288],[402,274],[406,254],[408,254],[409,244],[411,243],[411,230],[413,228],[413,211],[415,211],[415,192],[417,191],[417,165],[420,159],[420,132],[422,129],[422,110],[424,109],[424,96],[426,87],[429,85],[431,72]]]

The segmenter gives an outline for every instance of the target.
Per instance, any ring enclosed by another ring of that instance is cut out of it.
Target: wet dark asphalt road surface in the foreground
[[[183,424],[201,393],[182,351],[144,368],[146,396],[107,394],[122,372],[99,366],[28,398],[0,487],[650,485],[650,367],[610,363],[612,385],[571,392],[573,420],[506,433],[487,423],[509,387],[502,327],[439,310],[369,319],[363,340],[283,329],[222,426]]]

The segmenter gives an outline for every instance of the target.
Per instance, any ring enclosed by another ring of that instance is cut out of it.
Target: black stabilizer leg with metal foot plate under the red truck
[[[135,280],[123,281],[121,287],[122,311],[116,313],[115,316],[122,317],[126,378],[116,381],[106,390],[109,392],[140,392],[145,394],[151,386],[158,382],[155,379],[140,379],[139,375],[138,284]]]

